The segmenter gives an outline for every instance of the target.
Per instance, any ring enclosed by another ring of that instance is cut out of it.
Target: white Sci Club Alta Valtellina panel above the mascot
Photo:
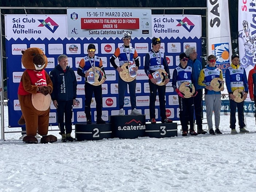
[[[66,15],[4,15],[6,39],[64,39]]]

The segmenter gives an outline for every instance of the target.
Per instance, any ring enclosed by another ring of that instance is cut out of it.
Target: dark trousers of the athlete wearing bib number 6
[[[230,128],[236,129],[236,108],[238,114],[238,125],[239,128],[242,129],[245,127],[244,124],[244,101],[241,103],[237,103],[232,99],[229,99],[229,107],[230,107]]]

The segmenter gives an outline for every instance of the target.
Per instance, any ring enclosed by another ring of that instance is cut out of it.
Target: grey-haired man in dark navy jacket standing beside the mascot
[[[62,135],[61,141],[74,141],[75,139],[71,136],[71,119],[73,115],[72,107],[75,105],[75,98],[77,97],[77,78],[75,77],[74,71],[67,66],[68,61],[66,55],[60,55],[58,57],[58,63],[50,73],[50,78],[53,82],[51,99],[57,109],[58,125]]]

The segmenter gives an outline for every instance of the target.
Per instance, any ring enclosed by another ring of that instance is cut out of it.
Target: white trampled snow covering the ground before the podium
[[[5,131],[21,130],[8,128],[5,111]],[[162,139],[62,143],[54,131],[56,143],[28,145],[8,133],[0,192],[255,192],[256,126],[254,117],[246,121],[249,134],[231,135],[222,114],[222,135],[182,137],[179,126],[178,137]]]

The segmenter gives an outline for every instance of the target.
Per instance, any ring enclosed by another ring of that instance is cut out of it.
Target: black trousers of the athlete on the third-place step
[[[159,96],[159,105],[160,105],[160,117],[161,119],[166,118],[166,109],[165,109],[165,90],[166,86],[155,85],[148,79],[148,83],[150,86],[150,119],[156,118],[156,110],[155,110],[155,102],[156,102],[156,94],[158,92]]]

